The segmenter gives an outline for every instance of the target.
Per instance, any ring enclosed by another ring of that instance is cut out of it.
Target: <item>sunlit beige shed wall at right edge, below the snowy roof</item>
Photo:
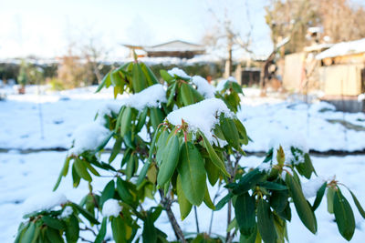
[[[363,65],[333,65],[318,68],[320,89],[326,96],[359,96]]]

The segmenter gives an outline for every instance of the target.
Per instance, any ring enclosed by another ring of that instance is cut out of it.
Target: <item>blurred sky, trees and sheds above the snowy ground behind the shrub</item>
[[[26,85],[98,85],[135,51],[157,75],[179,66],[209,81],[235,76],[263,93],[316,94],[361,111],[364,7],[361,0],[4,1],[0,84],[18,85],[18,93]]]

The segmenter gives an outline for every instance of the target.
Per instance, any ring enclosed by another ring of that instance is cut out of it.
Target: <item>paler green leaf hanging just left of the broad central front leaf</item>
[[[177,135],[172,135],[163,154],[162,165],[157,175],[157,183],[160,187],[163,187],[170,180],[179,162],[179,138]]]

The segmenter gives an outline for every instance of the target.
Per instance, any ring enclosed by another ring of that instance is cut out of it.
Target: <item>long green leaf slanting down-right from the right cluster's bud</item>
[[[304,197],[303,192],[297,181],[287,173],[286,177],[287,187],[291,193],[294,201],[294,205],[297,209],[297,215],[303,224],[313,233],[317,232],[317,219],[310,207],[306,197]]]

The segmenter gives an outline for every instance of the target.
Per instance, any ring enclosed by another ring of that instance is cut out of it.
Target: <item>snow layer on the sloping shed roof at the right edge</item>
[[[316,56],[316,59],[320,60],[328,57],[347,56],[360,53],[365,53],[365,38],[356,41],[340,42],[335,44],[326,51],[319,53]]]

